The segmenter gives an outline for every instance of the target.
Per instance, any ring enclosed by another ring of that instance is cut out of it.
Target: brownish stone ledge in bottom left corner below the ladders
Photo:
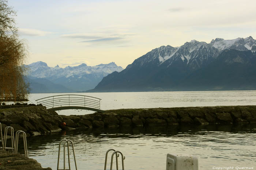
[[[0,170],[52,170],[42,168],[35,159],[25,157],[21,154],[12,154],[0,150]]]

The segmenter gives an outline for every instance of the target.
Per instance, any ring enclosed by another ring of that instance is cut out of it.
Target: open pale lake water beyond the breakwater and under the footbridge
[[[31,94],[30,103],[35,100],[67,93]],[[157,108],[190,106],[236,106],[256,105],[256,91],[178,91],[178,92],[106,92],[106,93],[71,93],[88,95],[101,100],[101,109],[120,108]],[[59,114],[83,115],[91,111],[64,110]]]

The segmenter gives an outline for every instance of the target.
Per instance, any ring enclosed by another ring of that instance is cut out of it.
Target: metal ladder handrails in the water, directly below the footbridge
[[[64,169],[59,169],[59,162],[60,162],[60,147],[61,147],[61,143],[64,142],[64,165],[63,165],[63,168]],[[75,157],[75,150],[74,150],[74,143],[73,141],[71,140],[67,140],[67,139],[63,139],[60,141],[59,143],[59,154],[58,154],[58,163],[57,163],[57,170],[70,170],[70,157],[69,157],[69,145],[70,143],[72,144],[72,150],[73,150],[73,154],[74,154],[74,161],[75,161],[75,166],[76,166],[76,157]],[[65,167],[65,157],[66,157],[66,154],[65,154],[65,146],[66,146],[66,143],[68,144],[68,167],[69,169],[66,169]],[[77,166],[76,166],[76,170],[77,170]]]

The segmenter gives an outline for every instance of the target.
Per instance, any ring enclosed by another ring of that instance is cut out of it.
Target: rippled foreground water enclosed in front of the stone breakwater
[[[256,125],[67,131],[28,138],[29,157],[42,167],[56,169],[58,144],[64,138],[75,143],[79,170],[102,170],[105,153],[110,148],[123,152],[127,170],[164,170],[167,153],[195,155],[200,170],[214,166],[256,169]],[[71,161],[74,169],[73,159]]]

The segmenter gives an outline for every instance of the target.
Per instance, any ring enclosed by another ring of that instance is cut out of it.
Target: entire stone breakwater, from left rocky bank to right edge
[[[58,115],[43,106],[0,109],[2,128],[12,126],[30,135],[62,130],[117,128],[122,126],[172,126],[187,124],[256,123],[256,106],[140,108],[108,110],[87,115]],[[65,122],[65,126],[63,126]]]

